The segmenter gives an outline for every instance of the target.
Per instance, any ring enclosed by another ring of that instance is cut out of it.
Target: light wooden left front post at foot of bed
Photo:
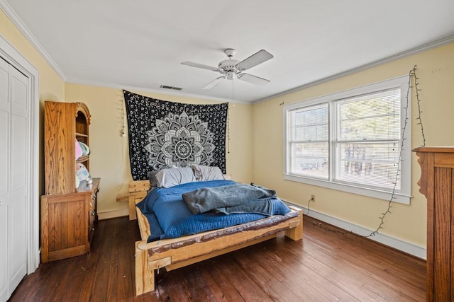
[[[145,249],[139,245],[145,246]],[[155,269],[148,269],[146,241],[135,242],[135,296],[155,290]]]

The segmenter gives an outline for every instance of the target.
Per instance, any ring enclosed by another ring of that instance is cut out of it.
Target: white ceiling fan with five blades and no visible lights
[[[214,86],[218,85],[218,83],[221,83],[221,81],[223,80],[233,80],[235,78],[246,81],[248,83],[253,83],[255,85],[264,85],[270,82],[270,80],[262,79],[258,76],[253,76],[252,74],[243,73],[243,71],[250,69],[253,66],[257,66],[258,64],[272,59],[273,55],[270,54],[270,52],[267,52],[266,50],[259,50],[252,56],[243,59],[243,61],[241,62],[236,59],[232,59],[232,57],[236,53],[236,50],[233,50],[233,48],[227,48],[226,50],[224,50],[224,53],[227,55],[228,59],[220,62],[217,67],[193,62],[182,62],[182,64],[208,69],[211,71],[217,71],[222,74],[222,76],[219,76],[217,79],[214,79],[214,81],[211,81],[208,85],[206,85],[204,89],[211,89]]]

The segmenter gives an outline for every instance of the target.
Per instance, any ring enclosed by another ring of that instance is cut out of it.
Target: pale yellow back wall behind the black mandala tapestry
[[[209,100],[187,98],[133,91],[160,100],[178,103],[209,104]],[[121,89],[66,84],[65,100],[87,104],[92,120],[90,124],[90,173],[101,178],[101,190],[98,194],[98,210],[101,218],[118,216],[114,211],[127,209],[127,204],[117,203],[116,195],[128,192],[132,180],[129,163],[127,121],[124,117],[126,137],[121,137],[122,108],[124,106]],[[230,153],[226,155],[226,170],[235,180],[252,180],[252,108],[253,105],[230,103],[229,132]]]

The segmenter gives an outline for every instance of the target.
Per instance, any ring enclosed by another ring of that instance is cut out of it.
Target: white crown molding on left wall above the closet
[[[45,51],[44,47],[40,45],[35,36],[28,30],[27,26],[21,21],[16,14],[16,12],[11,8],[11,6],[6,2],[6,0],[0,0],[0,8],[4,11],[5,15],[11,20],[11,22],[16,25],[16,28],[26,37],[28,42],[35,48],[35,50],[45,59],[46,62],[52,67],[52,69],[62,78],[63,81],[67,81],[67,77],[63,73],[62,69],[55,63],[55,61],[50,57],[48,52]]]

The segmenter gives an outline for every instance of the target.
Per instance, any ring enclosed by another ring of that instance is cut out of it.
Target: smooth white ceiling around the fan
[[[0,0],[65,81],[254,102],[454,41],[453,0]],[[223,50],[265,86],[180,64],[217,66]],[[413,66],[409,66],[411,69]]]

